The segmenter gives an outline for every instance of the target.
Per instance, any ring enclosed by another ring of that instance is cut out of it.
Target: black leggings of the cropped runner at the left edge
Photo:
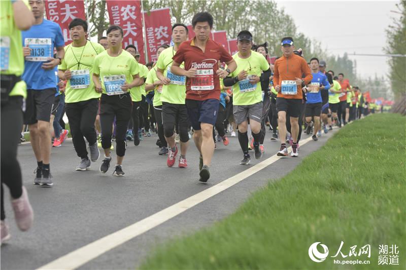
[[[17,147],[20,141],[23,124],[22,97],[9,97],[1,105],[1,219],[6,218],[4,212],[3,183],[10,189],[12,198],[22,195],[22,178],[20,164],[17,160]]]

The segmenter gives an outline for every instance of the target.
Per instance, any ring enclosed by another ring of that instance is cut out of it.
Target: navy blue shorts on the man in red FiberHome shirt
[[[200,123],[216,124],[220,101],[218,99],[186,99],[187,113],[194,130],[200,130]]]

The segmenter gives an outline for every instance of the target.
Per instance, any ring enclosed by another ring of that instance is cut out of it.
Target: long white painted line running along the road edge
[[[301,140],[300,147],[311,140],[312,137]],[[289,147],[288,150],[291,151],[291,147]],[[217,185],[209,187],[208,189],[205,189],[179,203],[176,203],[147,218],[133,223],[132,225],[120,229],[113,234],[100,238],[90,244],[87,244],[86,246],[74,250],[71,253],[68,253],[39,267],[38,269],[76,269],[92,259],[97,258],[101,254],[104,254],[107,251],[118,247],[125,242],[144,234],[145,232],[148,232],[148,230],[219,194],[221,191],[224,191],[225,189],[241,182],[254,173],[259,172],[270,164],[278,161],[279,159],[280,158],[277,157],[277,155],[274,155],[263,162],[258,163],[253,167],[218,183]]]

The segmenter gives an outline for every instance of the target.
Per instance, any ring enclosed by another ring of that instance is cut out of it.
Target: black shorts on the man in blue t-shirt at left
[[[52,105],[55,101],[56,88],[43,90],[27,89],[24,112],[24,124],[32,125],[38,121],[49,122]]]

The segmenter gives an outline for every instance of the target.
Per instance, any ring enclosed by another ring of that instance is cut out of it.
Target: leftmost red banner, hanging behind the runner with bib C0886
[[[45,4],[47,19],[59,24],[62,29],[65,45],[72,42],[69,23],[75,18],[86,20],[83,0],[47,0]]]

